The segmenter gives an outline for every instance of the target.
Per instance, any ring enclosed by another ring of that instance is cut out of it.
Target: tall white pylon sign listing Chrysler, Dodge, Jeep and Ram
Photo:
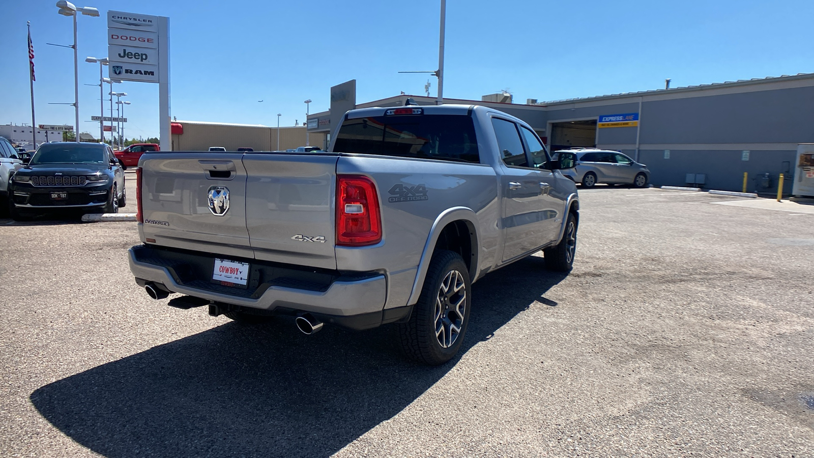
[[[161,150],[172,150],[169,18],[107,11],[107,59],[114,80],[158,83]]]

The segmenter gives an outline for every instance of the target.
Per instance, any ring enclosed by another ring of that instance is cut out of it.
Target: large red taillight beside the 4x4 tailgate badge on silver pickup
[[[379,196],[370,178],[339,175],[336,181],[336,244],[361,246],[382,240]]]

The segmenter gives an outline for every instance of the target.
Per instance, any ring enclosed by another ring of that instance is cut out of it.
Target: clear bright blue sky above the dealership
[[[98,135],[98,64],[107,10],[170,18],[172,114],[292,126],[329,108],[330,86],[357,80],[357,102],[422,95],[438,66],[440,0],[410,2],[99,1],[79,17],[81,129]],[[814,2],[540,2],[448,0],[444,95],[516,102],[814,72]],[[73,124],[71,19],[55,0],[6,2],[0,28],[0,124],[30,123],[26,21],[36,53],[37,123]],[[107,68],[105,68],[107,76]],[[132,104],[125,134],[158,134],[158,87],[114,86]],[[107,91],[106,91],[107,93]],[[258,100],[264,100],[258,103]]]

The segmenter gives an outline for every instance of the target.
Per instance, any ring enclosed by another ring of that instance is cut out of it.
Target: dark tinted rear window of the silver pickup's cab
[[[480,162],[475,125],[471,117],[463,115],[414,114],[346,119],[336,135],[334,151]]]

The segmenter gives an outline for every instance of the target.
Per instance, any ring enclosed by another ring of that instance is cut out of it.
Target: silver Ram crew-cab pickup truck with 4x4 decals
[[[394,323],[409,356],[441,364],[472,282],[540,249],[571,270],[573,165],[523,121],[466,105],[352,110],[328,152],[149,152],[130,269],[155,299],[239,322]]]

